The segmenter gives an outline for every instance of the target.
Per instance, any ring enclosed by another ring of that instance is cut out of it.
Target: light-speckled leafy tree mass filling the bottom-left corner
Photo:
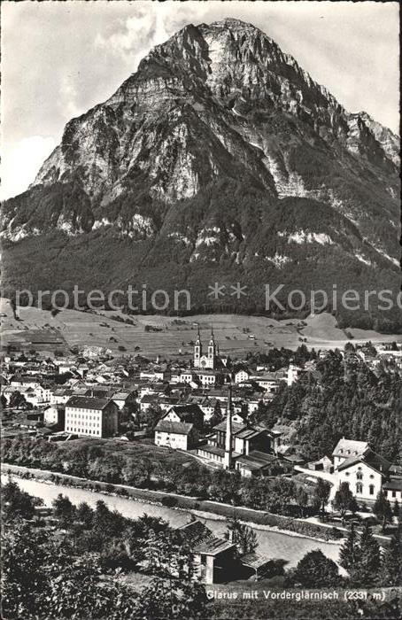
[[[3,614],[18,618],[133,617],[137,597],[124,586],[99,580],[93,554],[81,558],[68,543],[56,544],[27,524],[4,532]]]

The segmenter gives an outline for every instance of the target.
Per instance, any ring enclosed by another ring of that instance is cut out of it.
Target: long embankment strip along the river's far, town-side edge
[[[205,516],[208,519],[227,521],[237,518],[249,524],[254,529],[277,531],[306,539],[317,540],[317,542],[334,543],[344,538],[344,532],[336,528],[326,528],[315,523],[305,523],[287,516],[274,515],[262,510],[230,506],[211,500],[202,500],[196,497],[189,497],[173,492],[152,491],[150,489],[140,489],[126,484],[110,484],[98,480],[87,480],[69,474],[61,474],[47,469],[33,469],[22,465],[2,463],[2,474],[12,474],[21,478],[34,478],[50,484],[57,484],[64,487],[75,487],[91,492],[101,492],[127,498],[128,500],[143,501],[147,504],[165,506],[166,508],[184,510],[197,516]]]

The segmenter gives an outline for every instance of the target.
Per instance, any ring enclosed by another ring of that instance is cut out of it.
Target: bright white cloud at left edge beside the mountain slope
[[[56,147],[53,137],[30,136],[10,145],[4,144],[0,198],[11,198],[35,180],[39,168]]]

